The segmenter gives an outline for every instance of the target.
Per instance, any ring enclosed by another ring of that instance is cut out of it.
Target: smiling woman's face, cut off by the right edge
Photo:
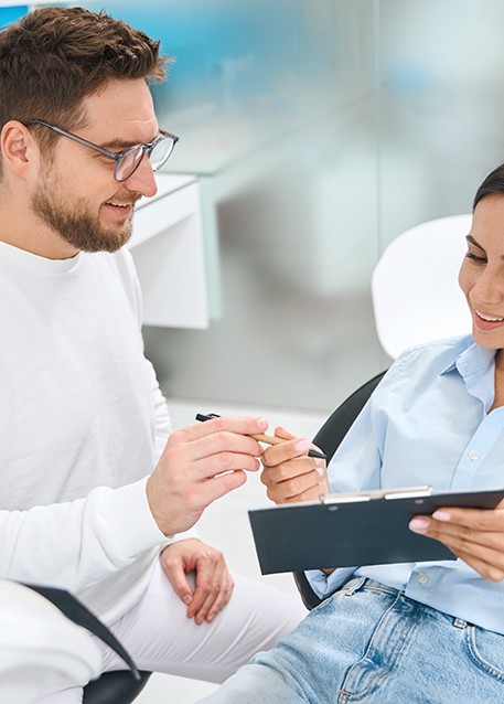
[[[504,194],[483,198],[475,210],[459,284],[472,316],[475,342],[504,348]]]

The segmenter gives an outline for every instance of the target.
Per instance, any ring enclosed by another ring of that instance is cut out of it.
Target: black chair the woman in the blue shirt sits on
[[[320,428],[313,444],[326,455],[328,462],[339,448],[341,441],[350,430],[353,422],[358,416],[361,410],[366,404],[376,386],[382,381],[385,372],[380,372],[369,378],[365,384],[360,386],[353,392],[325,420],[324,425]],[[322,601],[320,597],[313,591],[307,576],[303,572],[293,573],[296,586],[299,589],[301,598],[307,609],[313,609]]]

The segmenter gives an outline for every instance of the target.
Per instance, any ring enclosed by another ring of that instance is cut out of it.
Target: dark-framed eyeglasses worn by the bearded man
[[[108,149],[98,147],[98,145],[94,145],[92,141],[88,141],[83,137],[77,137],[77,135],[67,132],[64,129],[50,125],[49,122],[44,122],[43,120],[31,120],[26,124],[26,127],[31,127],[32,125],[42,125],[42,127],[47,127],[58,135],[63,135],[63,137],[68,137],[68,139],[73,139],[79,145],[84,145],[84,147],[89,147],[89,149],[98,151],[100,154],[104,154],[104,157],[114,159],[116,162],[114,178],[119,182],[126,181],[137,171],[146,154],[150,160],[153,171],[161,169],[179,141],[179,137],[175,135],[171,135],[170,132],[160,129],[159,136],[147,145],[133,145],[124,151],[109,151]]]

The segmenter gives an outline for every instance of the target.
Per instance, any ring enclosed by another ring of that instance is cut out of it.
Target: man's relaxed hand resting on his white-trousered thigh
[[[234,587],[224,555],[197,538],[189,538],[168,545],[160,558],[173,589],[187,605],[187,618],[194,618],[199,626],[211,623],[229,601]],[[186,578],[190,572],[196,573],[194,589]]]

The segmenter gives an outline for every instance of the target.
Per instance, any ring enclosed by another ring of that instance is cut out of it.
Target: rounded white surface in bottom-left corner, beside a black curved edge
[[[53,685],[98,676],[89,632],[32,589],[0,580],[0,702],[30,704]]]

